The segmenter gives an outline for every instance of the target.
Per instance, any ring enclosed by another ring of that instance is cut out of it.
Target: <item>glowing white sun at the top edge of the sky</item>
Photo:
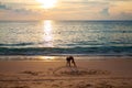
[[[41,4],[41,8],[43,9],[51,9],[51,8],[54,8],[57,0],[36,0],[40,4]]]

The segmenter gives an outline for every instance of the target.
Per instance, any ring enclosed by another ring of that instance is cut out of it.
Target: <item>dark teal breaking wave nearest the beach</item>
[[[132,56],[132,46],[98,47],[0,47],[0,55],[127,55]]]

